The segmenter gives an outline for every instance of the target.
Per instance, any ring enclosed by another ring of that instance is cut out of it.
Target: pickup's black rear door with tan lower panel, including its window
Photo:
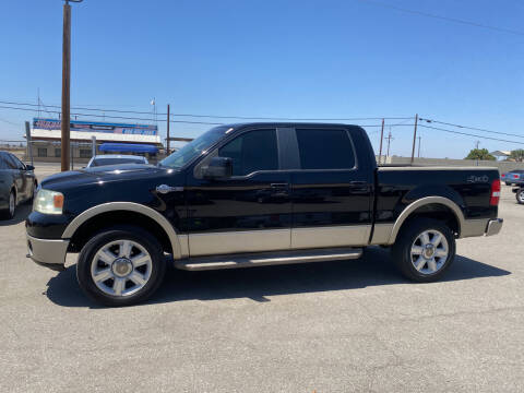
[[[291,248],[367,245],[373,170],[365,159],[359,163],[352,129],[297,126],[296,143],[300,170],[291,175]]]

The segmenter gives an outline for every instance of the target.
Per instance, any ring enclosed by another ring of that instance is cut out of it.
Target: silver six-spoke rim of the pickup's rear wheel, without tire
[[[445,236],[436,229],[422,231],[412,245],[412,263],[421,274],[437,273],[445,264],[450,247]]]

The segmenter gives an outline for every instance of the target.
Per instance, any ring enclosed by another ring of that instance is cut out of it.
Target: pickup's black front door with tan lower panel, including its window
[[[190,257],[290,247],[290,175],[279,170],[277,130],[239,132],[209,154],[231,158],[230,178],[188,175]]]

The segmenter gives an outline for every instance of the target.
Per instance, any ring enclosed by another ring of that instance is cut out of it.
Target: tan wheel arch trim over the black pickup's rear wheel
[[[444,215],[442,215],[442,213],[444,213]],[[452,200],[444,196],[425,196],[412,202],[400,214],[393,225],[388,243],[393,245],[395,242],[396,237],[403,225],[406,224],[409,219],[417,216],[431,216],[434,214],[439,214],[441,216],[437,219],[446,222],[451,219],[452,229],[456,231],[457,237],[461,237],[462,229],[465,226],[465,218],[458,205]]]

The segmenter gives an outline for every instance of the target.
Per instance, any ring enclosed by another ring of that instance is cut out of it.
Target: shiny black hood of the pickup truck
[[[152,178],[174,171],[170,168],[145,164],[108,165],[51,175],[41,181],[41,188],[61,191],[92,183]]]

